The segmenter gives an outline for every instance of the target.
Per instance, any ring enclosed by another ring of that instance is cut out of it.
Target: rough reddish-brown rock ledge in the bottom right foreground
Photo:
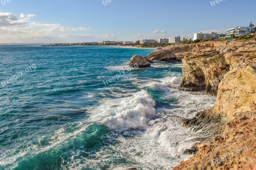
[[[197,144],[198,152],[173,170],[256,169],[256,113],[244,113],[226,122],[224,137]]]

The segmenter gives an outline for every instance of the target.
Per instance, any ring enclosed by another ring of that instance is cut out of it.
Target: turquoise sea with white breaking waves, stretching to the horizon
[[[128,66],[152,51],[0,46],[0,169],[172,169],[190,158],[206,132],[182,122],[215,97],[170,88],[180,62]]]

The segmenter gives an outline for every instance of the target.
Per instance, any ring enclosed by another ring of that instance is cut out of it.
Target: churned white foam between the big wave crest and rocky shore
[[[157,109],[144,133],[131,138],[117,139],[119,141],[117,150],[122,151],[122,155],[125,155],[128,161],[137,162],[140,168],[172,169],[180,161],[192,156],[183,153],[186,149],[192,148],[209,135],[202,131],[194,133],[182,127],[182,124],[185,118],[212,107],[215,104],[213,96],[176,89],[169,89],[164,93],[168,94],[166,97],[169,95],[177,97],[178,102],[172,104],[174,108]]]

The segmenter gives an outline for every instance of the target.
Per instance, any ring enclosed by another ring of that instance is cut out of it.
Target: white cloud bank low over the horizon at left
[[[0,43],[51,43],[51,42],[69,42],[75,39],[77,42],[84,42],[100,37],[100,41],[105,37],[114,37],[113,34],[98,36],[79,34],[81,31],[90,30],[90,28],[77,27],[68,28],[60,24],[48,24],[32,22],[29,19],[35,14],[20,13],[19,18],[13,13],[0,12]],[[74,32],[74,34],[60,34],[60,32]],[[77,33],[78,32],[78,33]],[[74,42],[74,41],[73,41]]]

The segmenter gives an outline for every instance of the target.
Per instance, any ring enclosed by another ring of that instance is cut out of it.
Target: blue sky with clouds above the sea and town
[[[108,1],[0,0],[0,43],[193,39],[193,33],[256,25],[255,0]]]

